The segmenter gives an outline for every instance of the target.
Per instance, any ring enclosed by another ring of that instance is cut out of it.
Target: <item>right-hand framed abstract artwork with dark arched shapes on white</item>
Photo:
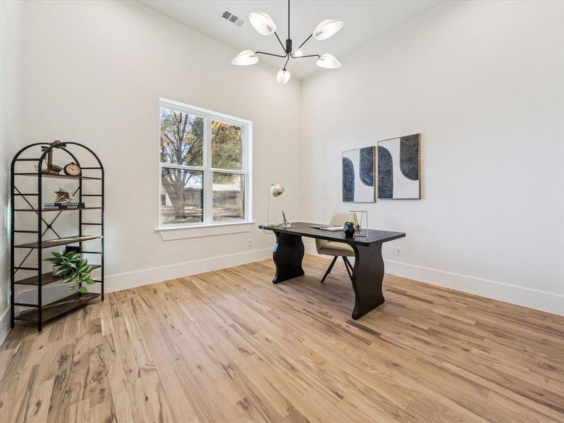
[[[378,198],[419,199],[419,137],[378,142]]]

